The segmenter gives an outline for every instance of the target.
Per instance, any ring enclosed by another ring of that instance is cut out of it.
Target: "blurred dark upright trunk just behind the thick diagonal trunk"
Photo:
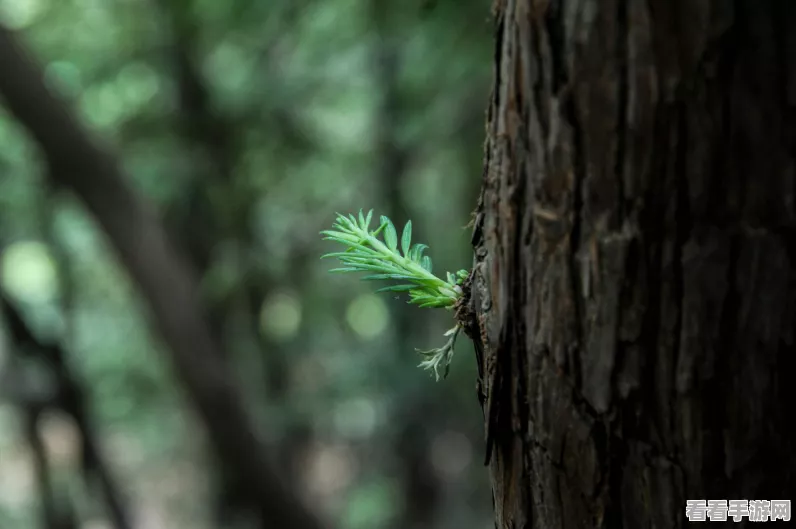
[[[287,352],[277,343],[264,336],[260,326],[260,308],[263,299],[273,288],[273,278],[258,269],[252,260],[252,249],[256,238],[252,232],[252,211],[261,197],[253,193],[250,184],[235,174],[240,162],[240,137],[245,133],[245,124],[240,116],[222,112],[201,72],[201,60],[197,51],[200,24],[185,5],[162,2],[165,18],[170,22],[172,71],[178,93],[179,112],[175,124],[186,149],[194,152],[196,163],[192,183],[186,196],[177,204],[170,216],[172,227],[179,240],[186,243],[188,255],[202,276],[212,275],[219,267],[219,247],[227,254],[225,263],[231,265],[234,279],[223,288],[211,289],[205,296],[205,305],[210,314],[209,321],[218,340],[224,344],[224,360],[230,365],[251,362],[253,353],[256,362],[262,362],[263,378],[255,377],[257,386],[265,387],[266,402],[279,408],[279,415],[288,414],[290,364]],[[272,47],[269,44],[266,48]],[[289,129],[295,118],[287,111],[287,118],[280,123]],[[274,142],[283,142],[284,132],[274,131]],[[304,263],[301,248],[293,262]],[[304,277],[301,266],[291,267],[291,276]],[[299,283],[285,278],[288,284]],[[248,340],[241,340],[244,335]],[[244,343],[245,342],[245,346]],[[252,347],[253,346],[253,347]],[[252,351],[253,349],[253,351]],[[247,356],[245,353],[249,353]],[[248,380],[243,380],[243,384]],[[257,394],[259,387],[247,387],[247,395]],[[259,395],[257,395],[259,396]],[[277,422],[276,417],[269,417]],[[297,468],[301,455],[310,444],[309,425],[291,425],[284,432],[272,436],[276,468],[291,486],[298,487]],[[270,523],[264,513],[257,515],[258,506],[249,505],[245,481],[232,469],[221,467],[216,499],[216,516],[221,525],[230,525],[233,520],[244,520],[259,516],[262,527]]]

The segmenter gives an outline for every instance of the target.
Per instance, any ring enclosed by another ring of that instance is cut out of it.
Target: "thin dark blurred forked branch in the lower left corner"
[[[26,402],[23,400],[27,412],[28,438],[31,447],[34,449],[34,452],[37,452],[39,449],[40,439],[36,432],[36,423],[38,422],[38,415],[42,409],[50,405],[58,407],[69,414],[74,419],[78,431],[80,432],[83,455],[82,467],[86,484],[90,486],[92,477],[99,481],[100,489],[104,496],[105,503],[108,505],[109,515],[114,526],[118,529],[130,529],[132,525],[130,524],[129,516],[121,500],[121,493],[111,477],[108,464],[100,453],[96,428],[86,410],[85,392],[66,363],[65,351],[58,344],[46,344],[36,338],[25,323],[22,315],[3,292],[0,292],[0,308],[2,308],[2,312],[8,324],[8,330],[14,344],[13,349],[17,355],[22,355],[24,352],[33,359],[41,362],[42,365],[46,366],[52,372],[55,379],[55,393],[51,402]],[[49,485],[46,487],[44,485],[44,483],[49,483],[49,476],[46,471],[47,463],[43,450],[42,454],[36,455],[37,471],[42,486],[44,487],[42,490],[45,494],[43,499],[45,501],[50,501],[51,506],[49,509],[54,509],[54,507],[52,507],[52,502],[54,501],[52,491],[49,490]],[[47,509],[46,506],[45,508]],[[54,511],[51,514],[54,516]]]

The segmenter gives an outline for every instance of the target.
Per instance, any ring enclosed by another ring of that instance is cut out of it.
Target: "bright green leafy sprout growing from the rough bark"
[[[447,281],[431,273],[431,258],[423,255],[428,249],[425,244],[412,245],[412,221],[408,221],[401,234],[398,249],[398,232],[392,221],[382,216],[379,227],[369,231],[373,210],[367,215],[359,211],[359,216],[337,214],[332,230],[322,231],[324,240],[339,242],[347,247],[344,252],[329,253],[321,257],[337,257],[343,265],[330,272],[370,272],[363,280],[394,280],[397,285],[380,288],[377,292],[408,292],[409,303],[420,307],[453,309],[462,298],[462,283],[469,275],[467,270],[456,274],[447,273]],[[384,241],[379,240],[382,234]],[[437,380],[448,376],[453,346],[461,331],[457,323],[445,336],[448,341],[442,347],[429,351],[417,350],[425,360],[420,363],[424,369],[432,369]]]

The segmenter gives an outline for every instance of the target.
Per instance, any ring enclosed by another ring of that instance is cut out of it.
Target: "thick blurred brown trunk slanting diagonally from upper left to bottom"
[[[83,200],[140,288],[220,460],[247,483],[273,527],[320,528],[267,463],[209,332],[193,272],[154,212],[124,181],[118,161],[48,91],[41,68],[3,27],[0,64],[0,95],[41,146],[51,178]]]

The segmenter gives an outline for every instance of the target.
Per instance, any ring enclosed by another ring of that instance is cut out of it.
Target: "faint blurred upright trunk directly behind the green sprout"
[[[411,113],[407,112],[398,77],[405,54],[400,33],[396,29],[396,5],[372,0],[370,13],[375,37],[373,73],[379,94],[374,127],[377,181],[384,199],[384,213],[402,225],[411,216],[410,204],[402,188],[418,146],[416,141],[402,140],[400,134],[400,130],[405,128],[405,116]],[[414,233],[416,238],[422,237],[422,232],[416,226]],[[395,329],[392,345],[397,353],[388,370],[391,378],[395,377],[397,370],[415,370],[414,365],[404,360],[407,353],[414,354],[412,339],[419,334],[418,330],[426,329],[427,324],[421,321],[418,311],[413,308],[405,303],[390,307]],[[411,375],[414,377],[415,373]],[[434,431],[428,424],[429,414],[433,413],[430,397],[427,385],[410,384],[402,389],[402,395],[397,399],[400,404],[396,406],[393,418],[395,430],[392,431],[390,446],[397,459],[403,508],[392,521],[391,527],[431,527],[439,512],[442,487],[429,458],[429,445]]]

